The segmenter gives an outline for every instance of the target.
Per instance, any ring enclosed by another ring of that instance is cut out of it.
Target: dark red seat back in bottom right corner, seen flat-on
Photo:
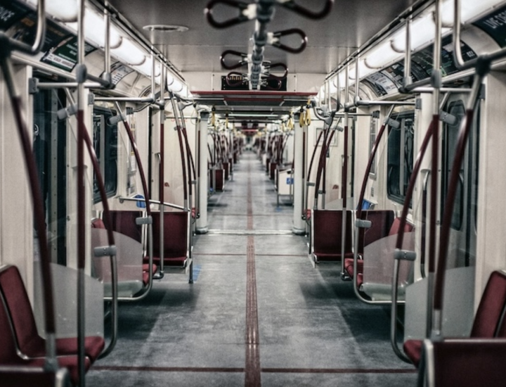
[[[473,339],[432,343],[436,387],[506,386],[506,343]]]

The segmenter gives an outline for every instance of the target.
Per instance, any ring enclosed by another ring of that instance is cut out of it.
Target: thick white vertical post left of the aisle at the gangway
[[[207,120],[209,120],[209,113],[200,113],[200,130],[199,130],[199,211],[200,217],[197,219],[196,231],[198,234],[206,234],[209,231],[207,226],[207,192],[209,191],[208,184],[208,167],[207,167]]]

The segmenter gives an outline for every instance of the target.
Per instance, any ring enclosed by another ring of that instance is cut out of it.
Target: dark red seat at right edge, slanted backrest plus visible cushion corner
[[[474,316],[471,338],[506,338],[506,322],[503,314],[506,307],[506,274],[492,272],[488,277],[484,293]],[[407,340],[404,352],[418,366],[422,356],[422,341]]]

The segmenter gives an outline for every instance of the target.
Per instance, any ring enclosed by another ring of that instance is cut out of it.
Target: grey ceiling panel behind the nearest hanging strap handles
[[[323,0],[297,0],[299,4],[320,9]],[[213,28],[204,15],[207,0],[109,0],[124,18],[155,44],[181,72],[221,71],[219,56],[226,49],[247,52],[254,22],[242,23],[224,30]],[[266,49],[265,58],[273,63],[282,61],[290,73],[326,74],[347,54],[361,46],[398,13],[415,0],[336,0],[332,13],[323,20],[309,20],[277,6],[268,30],[301,28],[308,36],[303,53],[285,53],[273,47]],[[235,15],[230,8],[217,7],[216,18]],[[228,13],[227,13],[228,12]],[[187,32],[150,32],[145,25],[183,25]]]

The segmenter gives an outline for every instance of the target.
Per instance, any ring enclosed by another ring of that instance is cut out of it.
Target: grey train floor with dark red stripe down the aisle
[[[195,237],[195,283],[155,281],[119,305],[115,350],[88,386],[415,386],[389,344],[389,309],[365,305],[340,265],[313,269],[292,206],[276,205],[254,153],[209,201]]]

